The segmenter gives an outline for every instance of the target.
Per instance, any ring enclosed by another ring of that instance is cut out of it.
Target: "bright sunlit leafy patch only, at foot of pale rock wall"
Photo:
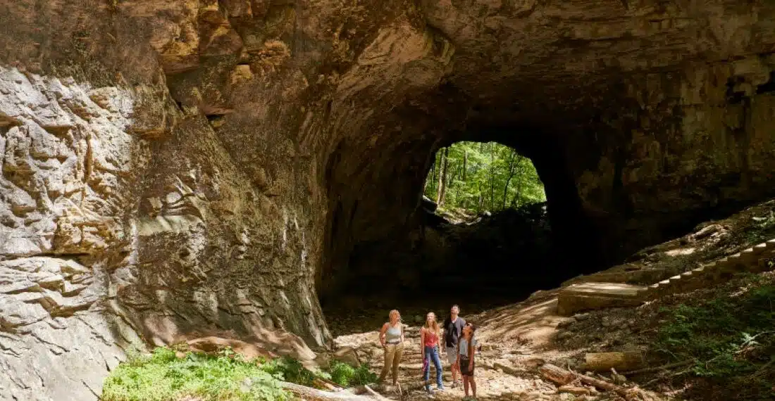
[[[156,348],[134,356],[111,372],[102,389],[105,401],[176,401],[196,396],[203,401],[286,401],[280,375],[246,362],[226,350],[217,356]]]

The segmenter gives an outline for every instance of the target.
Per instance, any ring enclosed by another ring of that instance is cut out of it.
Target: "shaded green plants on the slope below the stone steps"
[[[775,399],[775,285],[750,281],[752,288],[740,296],[663,309],[667,323],[655,348],[693,361],[686,373],[704,378],[719,395]]]

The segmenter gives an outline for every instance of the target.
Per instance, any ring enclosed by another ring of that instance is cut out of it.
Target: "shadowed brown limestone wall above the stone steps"
[[[629,108],[606,116],[593,135],[577,135],[569,149],[599,155],[592,168],[588,159],[570,159],[584,207],[608,238],[629,238],[611,253],[660,241],[665,227],[689,229],[715,207],[773,194],[773,72],[766,53],[624,82]]]

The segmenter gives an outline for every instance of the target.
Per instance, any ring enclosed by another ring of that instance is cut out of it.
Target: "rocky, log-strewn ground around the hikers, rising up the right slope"
[[[607,273],[667,269],[670,274],[677,274],[722,255],[739,252],[742,248],[775,237],[773,206],[775,202],[768,201],[732,217],[701,224],[691,234],[646,248],[625,265],[615,266]],[[566,284],[584,279],[578,277]],[[758,275],[758,280],[760,283],[775,283],[775,272],[762,273]],[[477,359],[478,399],[618,399],[608,393],[599,393],[591,386],[577,386],[580,389],[576,391],[587,394],[560,392],[552,382],[543,379],[538,367],[549,362],[563,368],[583,369],[587,352],[608,351],[639,351],[645,356],[646,366],[654,368],[666,365],[663,357],[653,349],[657,332],[666,321],[665,310],[691,300],[734,296],[735,293],[745,292],[746,283],[749,282],[750,277],[737,277],[721,286],[664,296],[640,307],[592,310],[572,317],[556,315],[558,290],[539,291],[524,302],[494,308],[491,305],[489,308],[484,305],[469,306],[461,302],[463,317],[479,325],[477,336],[483,344]],[[422,357],[418,330],[428,310],[434,310],[439,316],[446,315],[446,307],[436,303],[430,303],[425,308],[408,307],[401,310],[403,320],[408,325],[408,348],[401,364],[402,383],[416,383],[421,379]],[[383,364],[382,351],[377,341],[377,331],[373,329],[380,326],[384,320],[381,315],[386,317],[390,308],[387,305],[367,304],[374,307],[361,307],[355,313],[353,310],[340,310],[338,314],[336,311],[328,311],[327,314],[329,322],[332,322],[332,331],[338,336],[337,346],[356,349],[361,362],[369,362],[378,372]],[[433,396],[422,390],[412,390],[400,396],[395,392],[386,395],[394,399],[410,400],[462,398],[462,389],[449,389],[451,376],[448,364],[443,361],[443,365],[446,391],[437,392]],[[682,394],[688,399],[714,398],[714,390],[703,390],[701,380],[684,379],[686,372],[685,366],[675,366],[625,377],[610,374],[595,377],[625,387],[638,386],[653,391],[654,396],[662,399],[675,399],[682,397]],[[704,395],[703,391],[706,391]],[[696,398],[698,393],[702,398]]]

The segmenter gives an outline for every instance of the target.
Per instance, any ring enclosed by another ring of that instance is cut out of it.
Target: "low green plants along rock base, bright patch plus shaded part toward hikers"
[[[127,351],[127,361],[105,379],[104,401],[177,401],[195,396],[202,401],[286,401],[288,392],[280,381],[314,386],[327,379],[340,386],[377,381],[369,365],[353,368],[332,362],[328,372],[312,372],[294,358],[248,362],[229,348],[210,356],[188,352],[177,358],[171,348],[160,347],[150,355]]]

